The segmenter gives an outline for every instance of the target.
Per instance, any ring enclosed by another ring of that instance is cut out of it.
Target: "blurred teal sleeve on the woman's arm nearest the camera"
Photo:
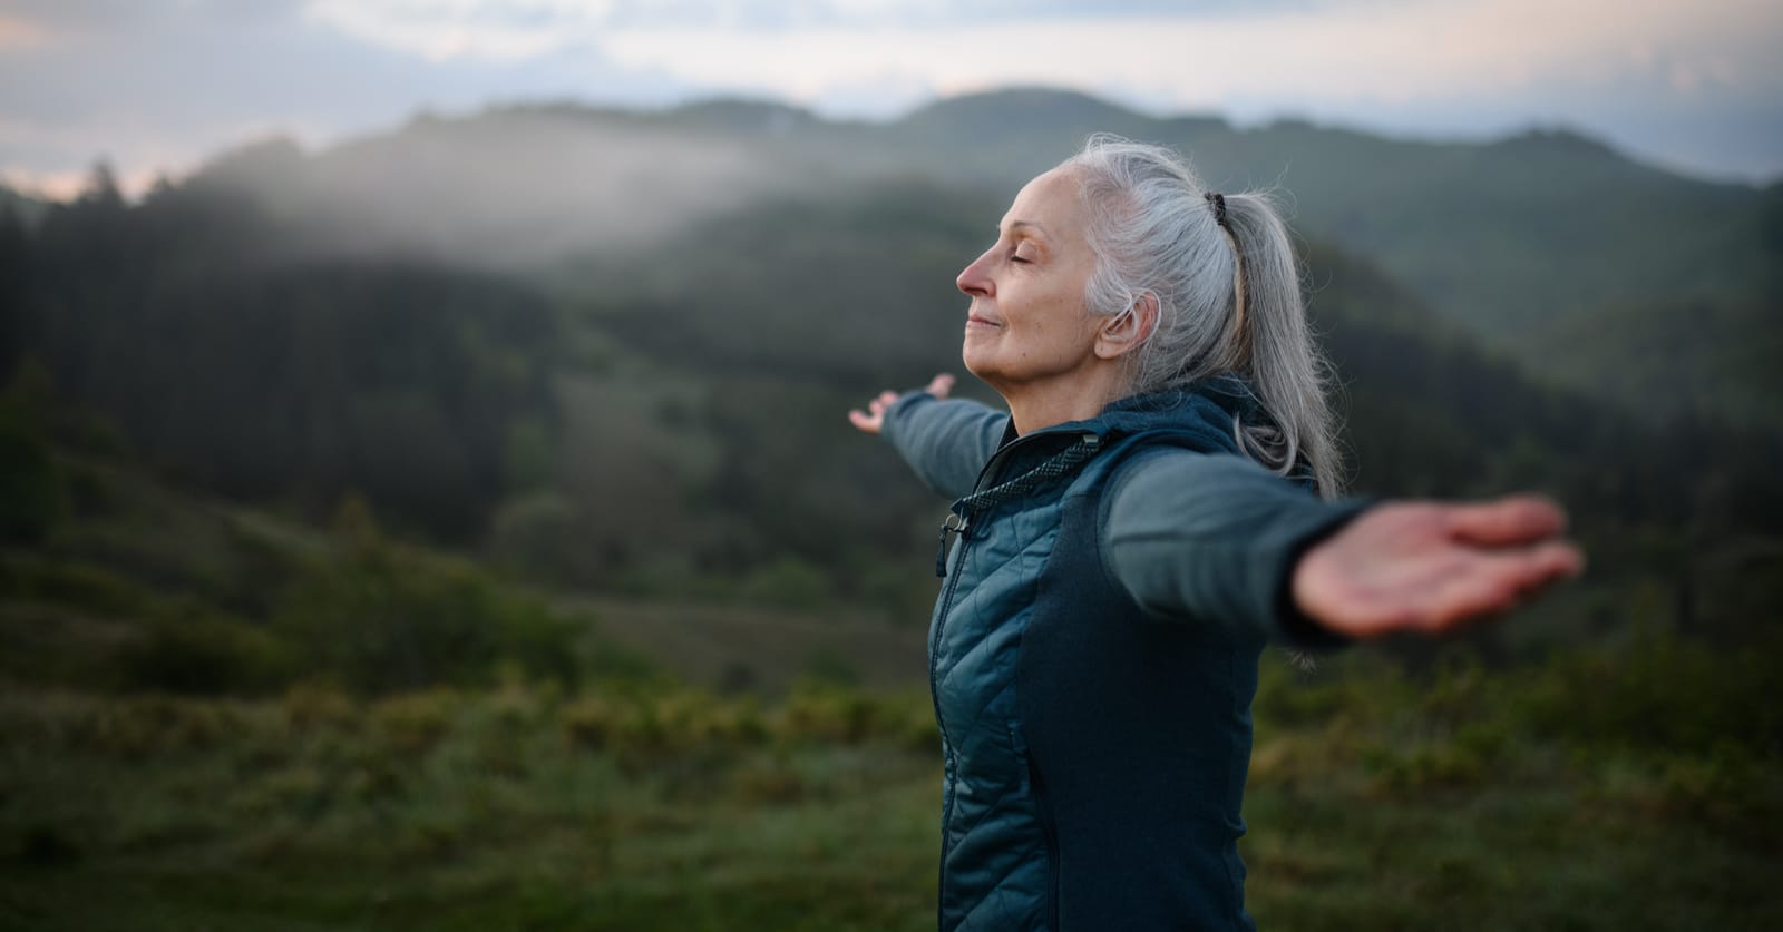
[[[1141,608],[1294,647],[1346,643],[1289,586],[1300,556],[1369,503],[1327,503],[1241,456],[1186,449],[1125,463],[1113,483],[1104,558]]]

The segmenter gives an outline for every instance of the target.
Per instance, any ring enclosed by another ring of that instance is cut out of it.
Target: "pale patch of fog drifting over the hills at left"
[[[747,109],[763,128],[783,110]],[[649,249],[763,196],[811,184],[772,134],[579,107],[515,107],[305,153],[269,139],[189,182],[250,194],[307,257],[421,257],[515,269]]]

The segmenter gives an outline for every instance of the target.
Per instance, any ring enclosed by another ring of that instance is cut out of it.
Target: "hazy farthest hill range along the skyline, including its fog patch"
[[[1783,339],[1779,189],[1683,178],[1567,130],[1432,143],[1302,121],[1239,128],[1036,89],[892,123],[760,102],[510,105],[316,153],[267,141],[182,187],[248,194],[289,253],[514,271],[649,249],[767,200],[899,180],[1000,205],[1102,130],[1182,148],[1214,187],[1278,189],[1302,235],[1376,262],[1541,381],[1640,417],[1783,429],[1769,367],[1747,362]],[[972,223],[988,232],[997,210]],[[1696,390],[1651,390],[1671,355]]]

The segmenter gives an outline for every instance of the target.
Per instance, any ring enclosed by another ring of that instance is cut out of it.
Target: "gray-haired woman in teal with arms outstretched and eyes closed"
[[[947,930],[1250,928],[1257,656],[1448,631],[1571,576],[1546,501],[1332,503],[1287,232],[1095,137],[959,274],[950,376],[850,412],[956,499],[929,640]],[[952,551],[947,551],[949,538]]]

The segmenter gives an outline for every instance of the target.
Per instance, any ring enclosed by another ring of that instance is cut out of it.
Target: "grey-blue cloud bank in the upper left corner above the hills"
[[[53,191],[96,159],[141,187],[153,169],[273,134],[323,144],[423,109],[686,93],[649,66],[615,71],[592,48],[428,61],[319,23],[296,0],[27,2],[7,16],[36,39],[0,55],[0,171]]]

